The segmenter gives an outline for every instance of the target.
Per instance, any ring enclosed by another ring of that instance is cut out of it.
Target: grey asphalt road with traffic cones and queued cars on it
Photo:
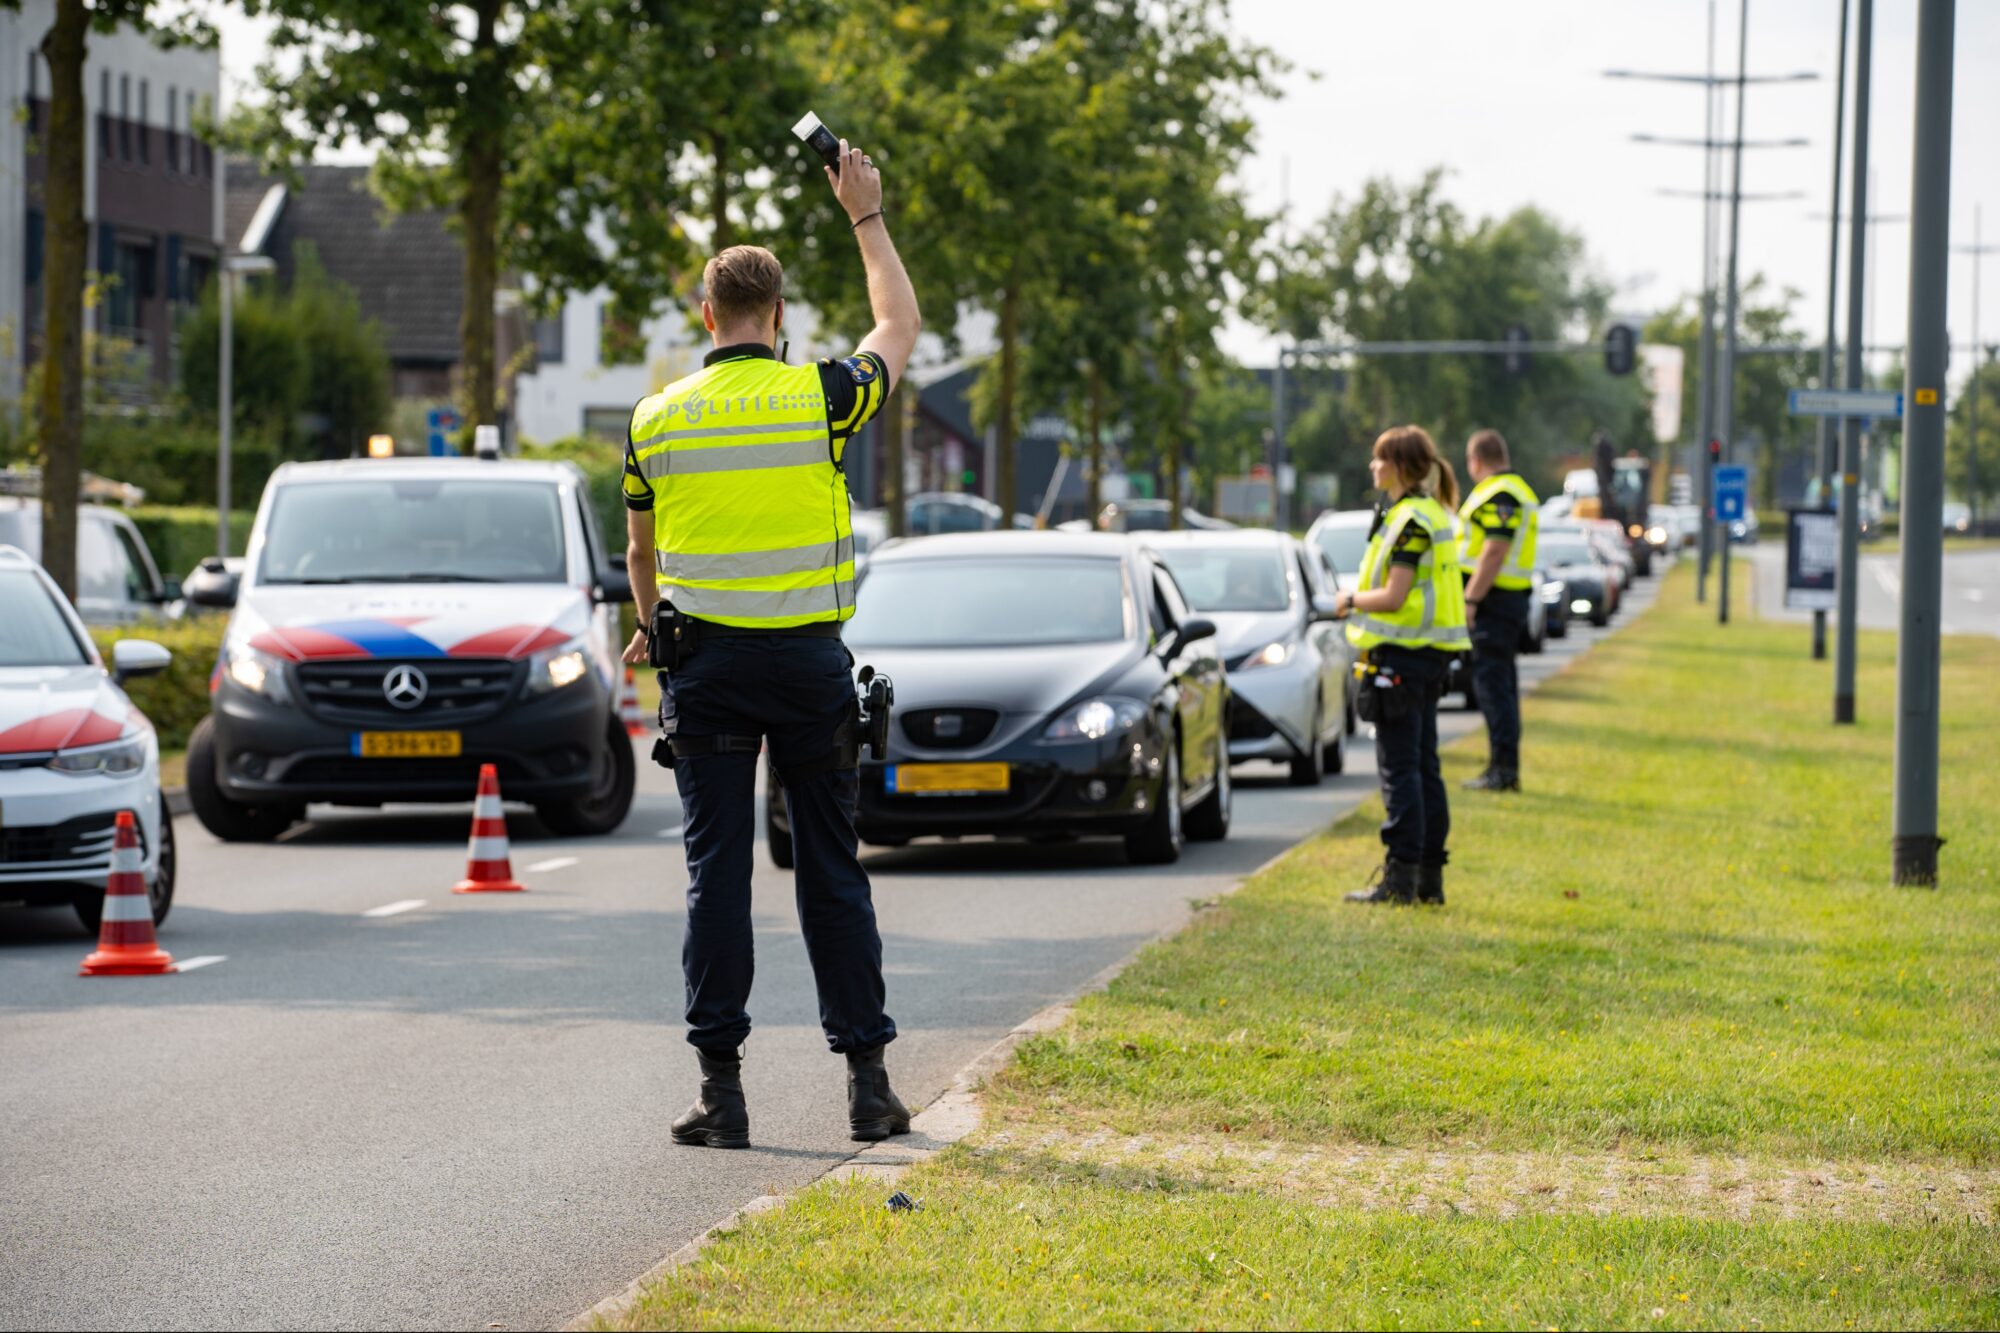
[[[1578,626],[1524,677],[1594,638]],[[1446,735],[1476,721],[1454,709]],[[844,1063],[762,855],[756,1147],[668,1141],[694,1091],[686,871],[672,781],[640,771],[618,837],[510,815],[524,895],[450,893],[470,807],[316,811],[270,847],[182,819],[162,943],[222,961],[178,977],[78,979],[74,917],[0,909],[0,1325],[550,1327],[846,1157]],[[1372,783],[1366,733],[1316,791],[1244,767],[1230,839],[1166,869],[1116,841],[870,853],[896,1087],[930,1101]]]

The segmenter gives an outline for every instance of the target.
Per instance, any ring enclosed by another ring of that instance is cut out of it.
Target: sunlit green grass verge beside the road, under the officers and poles
[[[1938,893],[1860,671],[1836,731],[1676,570],[1534,695],[1528,793],[1454,803],[1444,911],[1338,901],[1370,803],[1022,1047],[922,1213],[814,1187],[632,1325],[2000,1323],[2000,642],[1944,650]]]

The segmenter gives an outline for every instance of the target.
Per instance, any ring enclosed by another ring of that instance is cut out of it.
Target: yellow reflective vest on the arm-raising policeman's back
[[[736,356],[632,412],[660,596],[738,628],[854,614],[854,532],[814,364]]]

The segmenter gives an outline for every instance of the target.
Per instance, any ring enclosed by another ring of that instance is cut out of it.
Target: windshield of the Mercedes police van
[[[548,482],[296,482],[272,496],[258,582],[562,582],[562,500]]]

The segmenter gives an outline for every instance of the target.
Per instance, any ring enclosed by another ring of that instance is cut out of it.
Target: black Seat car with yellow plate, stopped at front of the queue
[[[846,626],[896,683],[854,825],[918,837],[1124,837],[1142,865],[1230,829],[1230,687],[1216,626],[1112,534],[966,532],[884,546]],[[792,863],[768,773],[772,859]]]

